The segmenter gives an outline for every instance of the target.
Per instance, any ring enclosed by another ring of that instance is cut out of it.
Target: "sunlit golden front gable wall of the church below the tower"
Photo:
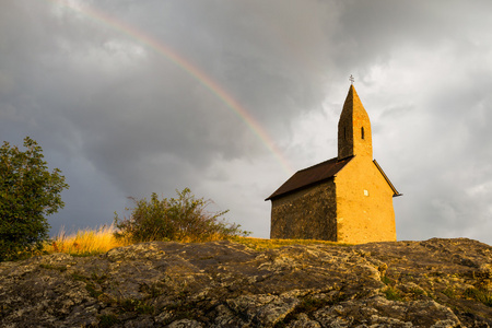
[[[335,178],[338,241],[396,241],[393,189],[367,156],[355,156]]]

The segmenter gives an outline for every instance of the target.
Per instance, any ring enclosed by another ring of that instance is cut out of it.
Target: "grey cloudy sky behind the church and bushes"
[[[368,113],[399,241],[492,244],[492,2],[0,0],[0,141],[70,188],[51,235],[189,187],[269,237],[270,196]]]

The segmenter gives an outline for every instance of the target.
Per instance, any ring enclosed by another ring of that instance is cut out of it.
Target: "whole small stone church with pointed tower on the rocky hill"
[[[373,160],[371,122],[353,85],[338,122],[338,156],[296,172],[271,200],[271,238],[396,241],[400,196]]]

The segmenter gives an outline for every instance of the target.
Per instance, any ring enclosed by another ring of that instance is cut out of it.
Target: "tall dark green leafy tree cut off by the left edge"
[[[69,187],[60,169],[49,173],[35,140],[26,137],[24,147],[22,152],[5,141],[0,148],[0,261],[42,249],[45,215],[63,208],[60,192]]]

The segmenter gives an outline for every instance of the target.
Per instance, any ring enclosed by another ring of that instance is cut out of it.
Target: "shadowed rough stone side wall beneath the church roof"
[[[333,180],[272,200],[271,238],[337,241]]]

